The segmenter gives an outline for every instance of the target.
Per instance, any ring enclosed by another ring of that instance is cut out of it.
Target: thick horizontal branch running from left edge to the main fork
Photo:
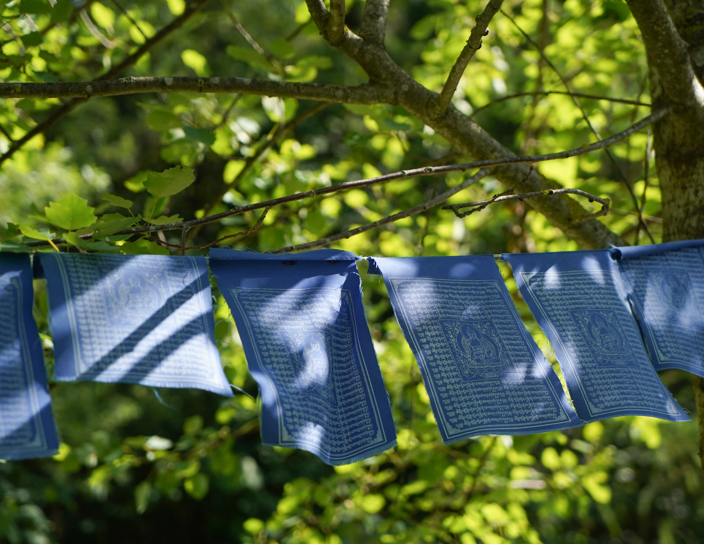
[[[122,77],[119,80],[56,83],[0,83],[0,98],[77,98],[140,93],[243,93],[322,102],[394,103],[394,93],[380,85],[325,85],[244,77]]]

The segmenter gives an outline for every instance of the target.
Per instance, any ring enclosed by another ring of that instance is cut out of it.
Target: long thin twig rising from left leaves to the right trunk
[[[496,158],[496,159],[486,159],[486,160],[476,160],[473,163],[463,163],[445,166],[426,166],[421,168],[413,168],[412,170],[401,170],[400,172],[393,172],[391,174],[384,174],[381,176],[370,177],[368,179],[358,179],[353,182],[344,182],[337,185],[331,185],[328,187],[321,187],[320,189],[313,189],[311,191],[306,191],[303,193],[291,194],[288,196],[281,196],[279,198],[272,198],[268,201],[262,201],[258,203],[246,204],[244,206],[239,206],[237,208],[232,208],[225,212],[216,213],[215,215],[209,215],[207,217],[201,217],[200,219],[194,219],[190,221],[182,221],[161,225],[149,225],[146,227],[132,227],[130,229],[122,229],[121,231],[115,232],[111,236],[120,236],[122,234],[140,234],[142,232],[156,232],[158,230],[179,230],[183,227],[196,227],[199,224],[212,223],[219,221],[225,217],[230,217],[232,215],[239,215],[241,213],[246,213],[252,210],[260,210],[262,208],[273,208],[279,204],[284,204],[287,202],[293,202],[298,200],[303,200],[304,198],[313,198],[315,196],[321,196],[324,194],[336,193],[338,191],[348,191],[349,189],[360,189],[361,187],[367,187],[371,185],[376,185],[380,183],[391,182],[396,179],[405,179],[408,177],[416,176],[429,176],[436,175],[446,172],[465,172],[472,168],[486,168],[494,167],[500,165],[508,164],[518,164],[518,163],[539,163],[543,160],[555,160],[560,158],[575,157],[578,155],[584,155],[584,153],[589,153],[590,151],[595,151],[596,149],[601,149],[605,146],[610,146],[615,144],[617,141],[621,141],[624,138],[629,137],[634,132],[638,132],[643,127],[650,125],[650,123],[656,122],[665,115],[670,113],[670,108],[663,108],[655,113],[648,115],[646,118],[641,119],[639,122],[634,123],[631,127],[614,134],[611,137],[605,138],[603,140],[597,141],[590,145],[584,145],[582,147],[570,149],[568,151],[560,151],[558,153],[546,153],[545,155],[528,155],[520,157],[506,157],[506,158]],[[413,208],[412,208],[413,209]],[[91,238],[92,234],[84,234],[82,238]],[[58,239],[55,242],[64,243],[63,240]],[[46,246],[46,241],[37,241],[27,243],[27,246]]]

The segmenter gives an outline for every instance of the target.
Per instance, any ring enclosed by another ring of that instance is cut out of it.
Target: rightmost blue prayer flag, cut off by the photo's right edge
[[[613,248],[655,369],[704,377],[704,240]]]

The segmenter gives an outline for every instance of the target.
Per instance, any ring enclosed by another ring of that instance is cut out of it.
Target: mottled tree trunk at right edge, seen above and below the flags
[[[662,241],[704,238],[704,3],[629,0],[643,34],[653,110],[670,115],[653,127],[662,194]],[[704,475],[704,379],[693,376]]]

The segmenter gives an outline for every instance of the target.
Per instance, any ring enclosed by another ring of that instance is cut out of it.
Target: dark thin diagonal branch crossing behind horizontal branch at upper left
[[[144,42],[144,44],[142,44],[142,46],[139,47],[137,51],[134,51],[134,53],[128,55],[119,64],[114,65],[113,68],[108,70],[108,72],[103,74],[96,81],[110,80],[113,77],[118,77],[119,75],[125,73],[125,71],[128,70],[132,65],[134,65],[134,63],[139,61],[142,56],[151,51],[151,49],[153,49],[157,44],[163,42],[163,40],[169,37],[173,32],[180,29],[180,27],[182,27],[187,22],[187,20],[189,20],[193,15],[195,15],[199,11],[201,11],[201,9],[203,9],[206,4],[208,4],[208,2],[210,2],[210,0],[195,0],[194,2],[189,4],[184,9],[183,13],[181,13],[181,15],[179,15],[177,18],[172,20],[171,23],[159,30],[159,32],[154,34],[151,39]],[[51,127],[56,125],[58,121],[63,119],[65,115],[71,113],[73,110],[75,110],[77,106],[80,106],[80,104],[84,103],[84,101],[86,100],[87,99],[85,98],[74,99],[63,104],[63,106],[56,108],[56,110],[54,110],[53,113],[49,114],[49,116],[44,119],[44,121],[40,122],[39,125],[31,129],[20,139],[13,141],[8,150],[2,155],[0,155],[0,165],[4,163],[5,160],[13,156],[15,154],[15,151],[18,151],[18,149],[25,145],[27,141],[30,141],[32,138],[37,136],[37,134],[42,134],[46,130],[49,130]]]

